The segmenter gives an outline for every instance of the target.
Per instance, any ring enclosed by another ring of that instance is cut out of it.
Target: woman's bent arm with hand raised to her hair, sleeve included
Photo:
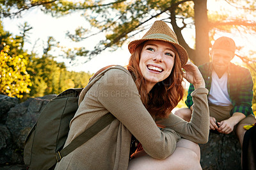
[[[157,124],[170,127],[181,137],[195,143],[207,143],[209,135],[208,90],[205,89],[204,79],[197,66],[189,61],[184,69],[186,70],[184,78],[195,87],[195,91],[191,93],[193,100],[191,121],[188,123],[178,116],[170,114],[167,119],[157,120]]]

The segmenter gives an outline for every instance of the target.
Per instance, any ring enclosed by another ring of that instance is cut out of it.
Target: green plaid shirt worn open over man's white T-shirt
[[[198,66],[200,72],[203,75],[205,81],[205,88],[209,91],[211,89],[212,82],[212,63],[205,63]],[[230,102],[233,105],[233,109],[230,111],[232,116],[234,112],[241,112],[245,116],[253,114],[252,112],[252,98],[253,98],[253,81],[252,75],[247,68],[234,65],[230,63],[228,66],[228,95]],[[193,84],[190,84],[188,89],[188,97],[186,105],[190,108],[193,105],[191,93],[195,88]]]

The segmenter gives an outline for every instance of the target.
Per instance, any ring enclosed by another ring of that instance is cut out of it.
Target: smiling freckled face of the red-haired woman
[[[171,43],[148,40],[141,51],[140,70],[148,88],[166,79],[172,72],[175,47]]]

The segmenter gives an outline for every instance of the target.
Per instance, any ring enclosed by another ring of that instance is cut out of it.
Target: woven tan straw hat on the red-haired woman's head
[[[172,43],[177,49],[180,57],[181,66],[184,66],[188,61],[187,51],[178,43],[177,36],[173,33],[172,29],[162,20],[156,20],[148,32],[140,39],[134,40],[129,43],[128,49],[131,54],[134,52],[136,47],[147,40],[161,40],[164,42]]]

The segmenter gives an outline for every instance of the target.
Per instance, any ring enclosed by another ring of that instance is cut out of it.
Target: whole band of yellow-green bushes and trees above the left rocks
[[[48,38],[43,56],[28,54],[23,45],[31,27],[27,23],[20,27],[21,35],[13,36],[3,30],[0,22],[1,94],[26,100],[86,86],[92,77],[90,72],[68,72],[64,63],[54,61],[51,50],[58,45],[54,38]]]

